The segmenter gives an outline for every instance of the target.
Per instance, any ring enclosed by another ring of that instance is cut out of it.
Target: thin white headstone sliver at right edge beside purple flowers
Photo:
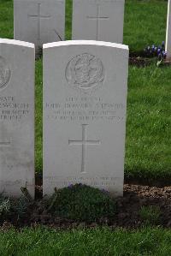
[[[168,21],[166,33],[166,51],[167,59],[171,60],[171,0],[168,0]]]

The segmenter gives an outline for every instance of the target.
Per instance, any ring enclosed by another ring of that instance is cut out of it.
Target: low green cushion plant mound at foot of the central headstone
[[[75,221],[94,222],[115,216],[115,200],[109,193],[86,185],[76,184],[54,193],[50,211],[58,217]]]

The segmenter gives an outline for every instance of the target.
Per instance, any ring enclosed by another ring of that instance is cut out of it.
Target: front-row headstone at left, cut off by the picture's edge
[[[0,39],[0,193],[34,196],[34,45]]]

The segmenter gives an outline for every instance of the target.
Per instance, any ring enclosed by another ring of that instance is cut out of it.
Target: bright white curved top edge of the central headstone
[[[107,47],[113,47],[113,48],[118,48],[118,49],[129,51],[128,45],[121,45],[121,44],[115,44],[115,43],[104,42],[104,41],[96,41],[96,40],[60,41],[60,42],[44,44],[43,48],[47,49],[47,48],[52,48],[52,47],[69,46],[69,45],[97,45],[97,46],[107,46]]]

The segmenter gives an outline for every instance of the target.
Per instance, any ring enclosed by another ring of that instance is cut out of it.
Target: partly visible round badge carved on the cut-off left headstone
[[[0,57],[0,89],[8,85],[11,72],[8,64],[3,57]]]

